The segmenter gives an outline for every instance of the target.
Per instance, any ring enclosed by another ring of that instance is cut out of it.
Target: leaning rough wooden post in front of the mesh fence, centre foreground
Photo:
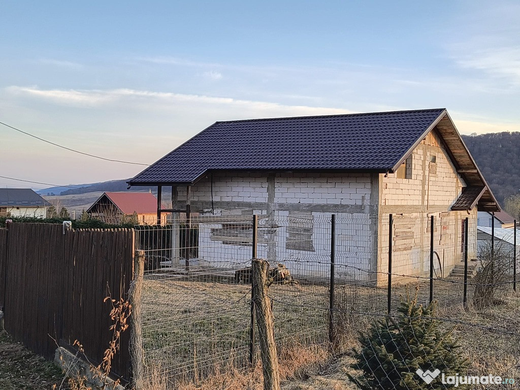
[[[275,344],[275,321],[267,294],[269,263],[261,258],[254,258],[252,263],[254,302],[264,373],[264,390],[280,390],[280,373]]]

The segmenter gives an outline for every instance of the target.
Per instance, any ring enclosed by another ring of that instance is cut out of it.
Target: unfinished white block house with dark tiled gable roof
[[[204,215],[255,213],[274,222],[265,226],[258,256],[294,274],[325,276],[320,262],[330,256],[330,231],[320,221],[336,214],[343,224],[336,272],[378,284],[388,272],[389,214],[393,272],[429,271],[421,248],[429,247],[433,215],[436,263],[447,275],[463,258],[464,219],[473,258],[477,209],[500,211],[445,109],[216,122],[128,184],[158,186],[159,193],[171,186],[167,212],[200,212],[198,260],[215,266],[227,261],[223,253],[246,261],[251,243],[231,246],[222,236],[235,232],[205,224]],[[215,250],[218,241],[223,249]]]

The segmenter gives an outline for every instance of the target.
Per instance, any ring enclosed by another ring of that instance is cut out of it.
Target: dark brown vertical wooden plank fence
[[[77,340],[90,362],[101,362],[112,337],[112,305],[103,300],[109,294],[127,298],[133,257],[133,229],[63,232],[62,225],[8,224],[0,229],[6,330],[47,358],[53,358],[57,342],[70,349]],[[2,288],[0,305],[1,300]],[[126,381],[129,339],[124,332],[112,361],[112,373]]]

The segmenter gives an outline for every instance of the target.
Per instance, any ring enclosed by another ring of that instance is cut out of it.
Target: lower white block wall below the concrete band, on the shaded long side
[[[313,213],[312,242],[314,252],[286,248],[289,213],[276,212],[275,233],[263,234],[264,222],[259,221],[258,256],[268,259],[272,265],[284,264],[291,274],[298,277],[329,278],[331,254],[331,213]],[[372,219],[368,214],[336,214],[337,280],[369,281],[370,272],[377,258],[373,248]],[[223,268],[243,268],[250,265],[251,246],[226,245],[211,240],[211,229],[219,224],[199,225],[199,264]],[[267,241],[267,242],[266,242]],[[269,242],[275,243],[275,257],[269,256]]]

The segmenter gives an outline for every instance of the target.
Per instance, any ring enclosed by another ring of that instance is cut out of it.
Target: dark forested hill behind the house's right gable
[[[462,138],[503,206],[505,197],[520,190],[520,132],[463,135]]]

